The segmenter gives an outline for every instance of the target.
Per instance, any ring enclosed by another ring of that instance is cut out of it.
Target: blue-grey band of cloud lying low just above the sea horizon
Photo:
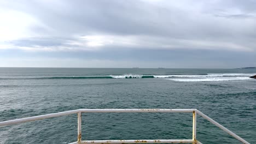
[[[7,53],[6,53],[7,54]],[[57,59],[80,59],[77,63],[90,62],[91,59],[100,61],[101,67],[113,67],[112,64],[119,63],[116,67],[148,67],[148,68],[239,68],[255,65],[255,54],[245,52],[229,51],[210,51],[210,50],[131,50],[114,49],[102,51],[79,51],[79,52],[22,52],[19,55],[8,53],[5,57],[11,58],[40,58],[49,61],[50,58]],[[5,58],[1,57],[1,58]],[[47,60],[48,59],[48,60]],[[73,60],[72,60],[73,59]],[[123,63],[121,63],[123,62]],[[133,65],[127,65],[127,62],[133,62]],[[120,64],[121,63],[121,64]],[[143,64],[141,64],[143,63]],[[54,63],[50,63],[54,64]],[[95,65],[98,63],[90,63]],[[105,64],[105,65],[104,65]],[[174,64],[174,65],[173,65]],[[55,63],[55,65],[57,65]],[[38,65],[37,65],[38,67]],[[45,66],[46,67],[46,66]],[[54,66],[51,66],[54,67]],[[55,66],[56,67],[56,66]],[[59,67],[59,66],[58,66]],[[63,67],[74,67],[68,64]],[[89,67],[84,65],[83,67]],[[94,66],[94,67],[97,67]],[[98,66],[99,67],[99,66]]]

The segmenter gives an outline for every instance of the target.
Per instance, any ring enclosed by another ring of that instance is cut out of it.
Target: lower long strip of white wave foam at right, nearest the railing
[[[251,80],[249,77],[211,77],[202,79],[167,79],[182,82]]]

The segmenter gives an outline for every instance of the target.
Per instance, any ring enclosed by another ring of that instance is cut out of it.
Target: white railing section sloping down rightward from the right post
[[[216,121],[214,121],[212,118],[206,116],[204,113],[202,113],[199,110],[196,110],[196,112],[202,116],[203,118],[207,119],[208,121],[210,121],[211,123],[213,123],[214,125],[216,125],[217,127],[219,127],[220,129],[226,131],[226,133],[230,134],[231,136],[235,137],[235,139],[240,140],[242,143],[245,144],[250,144],[249,142],[247,142],[246,140],[243,140],[240,136],[236,135],[235,133],[233,133],[232,131],[230,131],[229,129],[223,127],[221,124],[217,123]]]

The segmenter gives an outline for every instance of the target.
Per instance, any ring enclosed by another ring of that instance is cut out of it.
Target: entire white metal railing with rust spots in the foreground
[[[100,141],[82,141],[82,113],[83,112],[192,112],[193,113],[193,136],[190,140],[100,140]],[[235,137],[235,139],[241,141],[242,143],[249,144],[246,140],[243,140],[240,136],[236,135],[232,131],[228,130],[227,128],[223,127],[223,125],[217,123],[212,118],[206,116],[201,111],[196,109],[78,109],[72,111],[64,111],[64,112],[57,112],[51,113],[48,115],[40,115],[34,117],[27,117],[27,118],[20,118],[14,119],[10,121],[0,122],[0,126],[10,125],[10,124],[18,124],[30,121],[37,121],[39,119],[51,118],[51,117],[59,117],[59,116],[66,116],[77,113],[78,115],[78,137],[76,142],[72,142],[71,144],[82,144],[82,143],[197,143],[200,144],[201,142],[196,140],[196,114],[202,116],[203,118],[207,119],[220,129],[224,130],[226,133],[230,134],[231,136]]]

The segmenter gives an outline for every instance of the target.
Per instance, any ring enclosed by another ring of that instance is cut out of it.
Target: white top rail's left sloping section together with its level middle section
[[[39,119],[45,119],[45,118],[66,116],[66,115],[71,115],[78,112],[193,112],[195,110],[196,109],[78,109],[78,110],[72,110],[72,111],[63,111],[63,112],[57,112],[57,113],[50,113],[47,115],[40,115],[40,116],[4,121],[4,122],[0,122],[0,126],[37,121]]]

